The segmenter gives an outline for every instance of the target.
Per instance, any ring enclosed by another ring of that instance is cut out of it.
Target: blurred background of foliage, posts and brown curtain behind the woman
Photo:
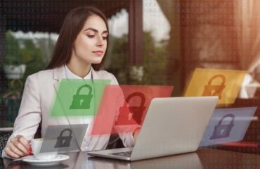
[[[8,0],[0,2],[1,125],[13,125],[23,84],[46,68],[65,15],[84,5],[108,18],[103,69],[119,84],[174,85],[173,96],[182,96],[195,68],[247,70],[245,94],[233,106],[259,106],[259,0]],[[257,142],[259,127],[253,122],[245,140]]]

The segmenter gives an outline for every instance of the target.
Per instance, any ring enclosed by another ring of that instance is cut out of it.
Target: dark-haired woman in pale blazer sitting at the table
[[[13,134],[8,139],[3,156],[27,156],[30,140],[40,122],[41,135],[44,135],[48,125],[64,123],[63,120],[48,118],[56,84],[61,79],[108,79],[111,84],[118,84],[114,75],[100,70],[105,62],[107,47],[108,23],[97,8],[79,7],[67,14],[48,67],[27,77]],[[134,137],[132,133],[119,135],[124,146],[133,146],[137,134],[135,132]],[[91,139],[86,150],[105,149],[108,140],[108,136]]]

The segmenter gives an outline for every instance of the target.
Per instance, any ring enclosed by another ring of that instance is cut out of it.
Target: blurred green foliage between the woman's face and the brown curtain
[[[144,32],[143,38],[144,74],[139,81],[130,75],[128,36],[110,37],[105,69],[117,77],[119,84],[167,84],[167,42],[155,42],[151,32]]]

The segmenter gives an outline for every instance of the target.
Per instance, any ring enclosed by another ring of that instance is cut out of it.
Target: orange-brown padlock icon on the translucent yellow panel
[[[219,85],[212,85],[212,81],[216,79],[217,77],[221,78],[222,82]],[[221,99],[221,95],[223,93],[223,90],[225,89],[226,85],[226,77],[224,75],[214,75],[212,78],[210,78],[207,85],[204,86],[204,92],[202,96],[219,96],[219,99]]]

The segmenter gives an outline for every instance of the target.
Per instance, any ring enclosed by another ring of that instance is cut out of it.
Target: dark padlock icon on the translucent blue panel
[[[225,118],[231,118],[230,123],[228,125],[223,125],[223,120]],[[220,138],[229,137],[230,131],[234,126],[234,120],[235,120],[235,115],[233,114],[224,115],[221,118],[221,120],[219,120],[219,123],[214,127],[214,132],[212,134],[212,137],[210,137],[210,139],[220,139]]]

